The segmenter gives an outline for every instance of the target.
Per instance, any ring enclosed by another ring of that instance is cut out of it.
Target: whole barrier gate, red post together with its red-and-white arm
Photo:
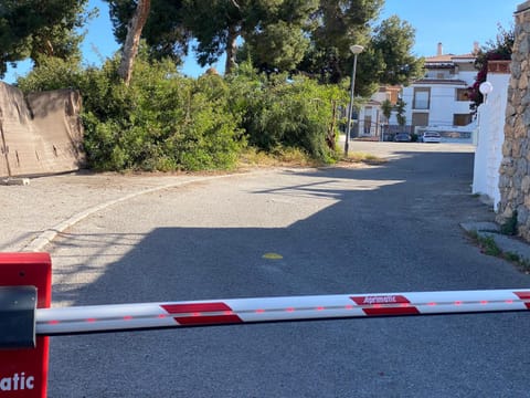
[[[530,311],[530,289],[226,298],[51,308],[47,253],[0,253],[0,398],[46,398],[49,336],[371,316]]]

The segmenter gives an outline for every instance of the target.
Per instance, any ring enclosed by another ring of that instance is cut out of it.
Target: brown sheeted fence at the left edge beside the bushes
[[[81,95],[30,94],[0,82],[0,177],[77,170],[84,165]]]

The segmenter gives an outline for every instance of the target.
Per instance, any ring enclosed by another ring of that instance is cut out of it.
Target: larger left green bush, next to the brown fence
[[[20,82],[24,91],[70,86],[83,97],[84,146],[99,170],[199,170],[235,167],[245,146],[230,90],[216,75],[192,80],[171,62],[136,60],[129,86],[117,76],[118,59],[100,69],[53,62]],[[63,78],[61,83],[61,78]]]

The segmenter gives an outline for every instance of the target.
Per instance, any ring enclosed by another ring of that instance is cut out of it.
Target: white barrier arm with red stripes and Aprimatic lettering
[[[36,334],[530,310],[530,290],[230,298],[36,310]]]

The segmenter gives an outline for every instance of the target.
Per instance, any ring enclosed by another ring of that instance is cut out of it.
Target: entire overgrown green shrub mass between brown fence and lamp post
[[[333,161],[338,108],[347,92],[304,77],[257,75],[242,65],[223,78],[194,80],[170,61],[140,53],[129,86],[119,57],[100,67],[47,59],[19,80],[24,92],[72,87],[83,97],[84,146],[98,170],[230,169],[247,145],[268,153],[293,148]]]

